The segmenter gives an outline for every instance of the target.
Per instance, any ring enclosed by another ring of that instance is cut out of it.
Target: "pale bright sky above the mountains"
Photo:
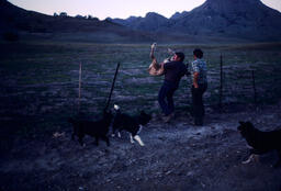
[[[67,12],[68,15],[88,15],[126,19],[130,15],[145,16],[157,12],[170,18],[176,12],[191,11],[205,0],[9,0],[11,3],[32,11],[53,15]],[[266,5],[281,12],[281,0],[261,0]]]

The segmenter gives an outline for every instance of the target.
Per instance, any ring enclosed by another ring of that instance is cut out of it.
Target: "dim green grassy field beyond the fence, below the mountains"
[[[0,43],[0,86],[3,122],[59,128],[78,108],[79,64],[82,64],[81,112],[94,116],[105,105],[117,63],[121,63],[112,104],[135,113],[146,110],[160,113],[157,94],[162,77],[147,72],[149,44],[87,44],[61,42]],[[162,60],[167,48],[186,54],[200,47],[209,66],[205,104],[218,104],[220,55],[223,55],[223,103],[254,103],[251,70],[255,70],[257,102],[273,103],[281,94],[281,43],[231,45],[158,45],[156,56]],[[178,112],[188,112],[190,77],[184,77],[175,101]],[[112,106],[111,104],[111,106]],[[32,120],[29,120],[32,119]],[[32,121],[32,122],[30,122]],[[37,127],[37,126],[36,126]],[[23,130],[23,128],[21,128]]]

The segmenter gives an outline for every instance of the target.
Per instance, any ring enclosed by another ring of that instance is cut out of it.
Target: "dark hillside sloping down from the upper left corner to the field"
[[[7,32],[21,33],[29,38],[36,36],[36,38],[97,43],[153,41],[146,32],[132,31],[109,20],[52,16],[0,0],[0,33]]]

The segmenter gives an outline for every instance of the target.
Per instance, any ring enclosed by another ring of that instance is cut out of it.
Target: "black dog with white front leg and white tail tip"
[[[120,106],[116,104],[114,105],[114,110],[116,113],[112,124],[112,135],[114,136],[117,133],[119,137],[121,137],[120,132],[126,131],[130,133],[131,143],[134,143],[135,139],[140,146],[144,146],[145,144],[138,134],[142,131],[143,125],[146,125],[151,120],[151,115],[142,111],[139,115],[131,116],[128,114],[121,113]]]

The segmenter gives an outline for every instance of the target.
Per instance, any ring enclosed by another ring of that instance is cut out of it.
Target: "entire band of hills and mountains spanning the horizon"
[[[144,18],[100,21],[46,15],[0,0],[0,35],[11,31],[95,43],[274,42],[281,41],[281,13],[260,0],[206,0],[170,19],[148,12]]]

